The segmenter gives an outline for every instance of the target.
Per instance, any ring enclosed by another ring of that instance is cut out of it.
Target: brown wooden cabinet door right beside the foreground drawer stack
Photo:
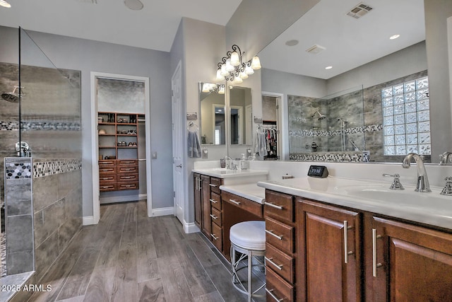
[[[305,282],[305,291],[299,298],[360,301],[361,215],[305,199],[299,201],[299,253],[304,252],[305,257],[299,257],[297,271],[306,272],[306,276],[299,275],[299,280]]]

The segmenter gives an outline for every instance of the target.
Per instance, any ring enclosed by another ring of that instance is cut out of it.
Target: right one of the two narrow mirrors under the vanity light
[[[230,144],[252,144],[251,88],[230,86]]]

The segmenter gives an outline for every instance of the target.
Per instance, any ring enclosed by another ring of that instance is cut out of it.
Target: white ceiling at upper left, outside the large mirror
[[[0,25],[169,52],[182,17],[226,25],[242,2],[141,1],[144,8],[132,11],[124,0],[8,0]]]

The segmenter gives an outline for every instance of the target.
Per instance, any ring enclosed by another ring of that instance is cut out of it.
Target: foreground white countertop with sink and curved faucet
[[[257,185],[268,190],[452,230],[452,196],[439,194],[442,187],[431,187],[432,192],[415,192],[414,186],[404,185],[405,190],[397,191],[389,190],[388,182],[335,177],[267,180]]]

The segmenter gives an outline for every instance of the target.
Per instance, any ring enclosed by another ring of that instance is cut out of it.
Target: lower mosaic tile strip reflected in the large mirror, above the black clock
[[[367,163],[370,161],[369,151],[349,151],[349,152],[313,152],[313,153],[290,153],[291,161],[334,161]]]

